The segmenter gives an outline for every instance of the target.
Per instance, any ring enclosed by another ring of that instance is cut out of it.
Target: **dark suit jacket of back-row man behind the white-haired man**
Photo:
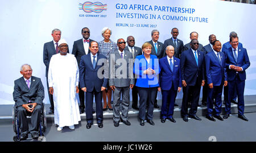
[[[180,39],[177,39],[176,43],[177,43],[177,50],[174,52],[174,56],[180,59],[181,52],[183,52],[184,44],[183,44],[183,41]],[[164,50],[166,50],[166,47],[170,45],[174,47],[174,41],[172,40],[172,38],[164,41]],[[166,52],[164,52],[164,55],[166,55]]]

